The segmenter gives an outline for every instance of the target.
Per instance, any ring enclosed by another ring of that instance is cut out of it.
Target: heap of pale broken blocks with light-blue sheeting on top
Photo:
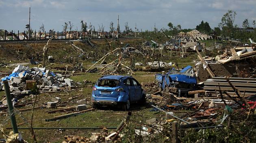
[[[74,81],[66,78],[68,75],[54,74],[46,68],[25,67],[18,65],[11,75],[2,78],[8,80],[13,95],[26,95],[32,93],[36,85],[39,91],[59,92],[61,89],[74,89]],[[0,89],[4,90],[3,84]]]

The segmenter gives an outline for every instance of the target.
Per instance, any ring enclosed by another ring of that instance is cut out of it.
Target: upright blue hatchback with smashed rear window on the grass
[[[93,86],[91,104],[119,106],[130,109],[130,103],[145,102],[145,91],[132,76],[102,76]]]

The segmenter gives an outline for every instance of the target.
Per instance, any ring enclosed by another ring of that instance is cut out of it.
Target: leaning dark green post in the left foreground
[[[8,104],[10,119],[11,119],[11,125],[13,126],[13,133],[17,134],[19,132],[18,132],[18,128],[17,128],[15,115],[14,115],[14,112],[13,112],[13,103],[11,101],[11,95],[10,95],[10,89],[9,89],[8,81],[4,80],[3,84],[4,84],[4,91],[5,91],[6,100],[7,100],[7,104]]]

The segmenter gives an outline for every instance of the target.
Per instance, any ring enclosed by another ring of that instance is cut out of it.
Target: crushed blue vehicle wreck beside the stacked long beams
[[[198,89],[193,67],[190,65],[181,71],[172,68],[167,74],[156,74],[155,79],[159,83],[160,91],[171,92],[179,97],[186,96],[189,91]]]

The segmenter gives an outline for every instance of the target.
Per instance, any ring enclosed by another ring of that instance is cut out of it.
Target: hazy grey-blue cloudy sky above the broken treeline
[[[98,29],[98,24],[109,30],[109,23],[120,29],[128,21],[130,28],[152,30],[168,28],[167,23],[180,24],[182,28],[195,28],[202,20],[210,27],[217,27],[229,9],[236,11],[235,24],[242,26],[244,19],[256,20],[256,0],[0,0],[0,29],[25,30],[31,7],[31,27],[39,30],[44,23],[46,30],[61,31],[64,22],[72,21],[80,30],[84,20]]]

